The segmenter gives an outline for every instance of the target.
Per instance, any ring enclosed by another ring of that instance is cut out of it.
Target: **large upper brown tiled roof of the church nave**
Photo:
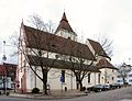
[[[85,44],[23,25],[26,47],[50,50],[63,55],[94,60],[95,57]]]

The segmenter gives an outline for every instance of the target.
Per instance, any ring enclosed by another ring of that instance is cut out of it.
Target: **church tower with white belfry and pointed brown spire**
[[[65,38],[77,41],[77,34],[73,31],[68,23],[65,12],[63,13],[62,20],[55,31],[55,34]]]

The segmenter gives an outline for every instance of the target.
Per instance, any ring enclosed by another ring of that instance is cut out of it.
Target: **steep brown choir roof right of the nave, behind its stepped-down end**
[[[97,55],[110,58],[98,42],[89,40],[89,38],[88,41]]]

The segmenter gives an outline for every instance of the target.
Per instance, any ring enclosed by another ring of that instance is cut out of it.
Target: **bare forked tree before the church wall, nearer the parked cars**
[[[76,44],[76,45],[75,45]],[[70,55],[69,56],[64,56],[64,65],[68,65],[67,67],[69,67],[69,70],[72,70],[76,77],[76,87],[77,89],[79,89],[80,91],[82,91],[82,80],[85,77],[88,76],[88,72],[99,72],[99,70],[94,66],[94,61],[96,60],[95,56],[90,56],[89,58],[91,60],[86,60],[86,58],[84,58],[84,56],[87,54],[85,52],[86,49],[86,45],[84,45],[85,47],[82,47],[82,44],[77,44],[75,43],[70,43],[68,44],[68,48],[70,49]],[[78,55],[77,57],[75,57],[74,55]]]

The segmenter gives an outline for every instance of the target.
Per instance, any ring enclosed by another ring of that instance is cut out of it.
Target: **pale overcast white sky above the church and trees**
[[[132,0],[0,0],[0,57],[3,55],[3,41],[19,34],[23,20],[29,25],[29,15],[36,13],[45,22],[52,20],[58,25],[65,11],[73,30],[86,38],[94,40],[98,34],[107,34],[113,41],[112,64],[132,61]],[[6,46],[8,61],[13,47]]]

